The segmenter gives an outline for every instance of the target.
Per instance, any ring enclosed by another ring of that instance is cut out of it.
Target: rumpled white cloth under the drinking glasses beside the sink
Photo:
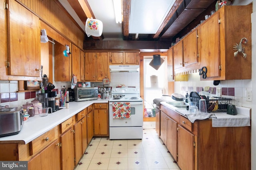
[[[186,109],[176,109],[179,113],[186,116],[189,121],[192,123],[195,122],[195,120],[204,120],[208,118],[216,118],[214,113],[200,113],[199,111],[196,111],[196,113],[191,113],[190,111]]]

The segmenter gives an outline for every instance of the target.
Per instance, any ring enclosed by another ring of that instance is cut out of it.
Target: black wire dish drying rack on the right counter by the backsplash
[[[196,106],[199,108],[199,100],[200,100],[199,98],[193,98],[191,101],[196,102]],[[221,98],[221,97],[214,97],[214,99],[206,99],[207,111],[210,113],[226,112],[231,100],[232,99],[230,98]],[[218,107],[216,106],[217,104],[218,104]]]

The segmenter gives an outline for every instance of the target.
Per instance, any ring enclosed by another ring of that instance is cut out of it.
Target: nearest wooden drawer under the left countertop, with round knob
[[[44,133],[40,137],[37,137],[29,143],[29,153],[30,155],[35,154],[36,152],[46,148],[53,141],[58,139],[58,127],[54,127],[50,131]]]

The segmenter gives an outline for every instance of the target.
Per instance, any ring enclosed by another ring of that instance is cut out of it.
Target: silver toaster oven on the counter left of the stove
[[[74,88],[74,101],[86,101],[98,99],[98,87],[77,87]]]

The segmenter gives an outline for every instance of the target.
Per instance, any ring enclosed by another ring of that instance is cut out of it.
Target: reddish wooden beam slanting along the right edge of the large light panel
[[[173,14],[176,12],[176,10],[178,9],[178,7],[180,6],[180,4],[183,2],[183,0],[176,0],[172,6],[172,8],[170,9],[170,11],[168,12],[166,18],[164,19],[162,25],[159,27],[158,31],[156,32],[156,34],[154,35],[153,38],[158,38],[158,36],[160,35],[160,33],[163,31],[164,27],[166,26],[166,24],[168,23],[168,21],[172,18]]]

